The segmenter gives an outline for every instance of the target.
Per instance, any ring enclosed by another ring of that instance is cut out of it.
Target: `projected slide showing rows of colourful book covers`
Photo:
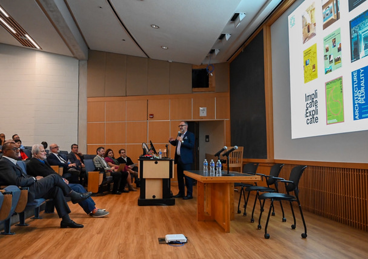
[[[288,21],[291,138],[368,130],[368,1],[305,0]]]

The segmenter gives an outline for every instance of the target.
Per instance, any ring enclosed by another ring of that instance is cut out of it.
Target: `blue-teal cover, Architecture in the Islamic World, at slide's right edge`
[[[368,10],[350,21],[351,62],[368,55]]]

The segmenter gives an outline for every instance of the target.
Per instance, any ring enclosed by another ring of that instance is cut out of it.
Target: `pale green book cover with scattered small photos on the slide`
[[[325,74],[335,71],[341,63],[341,35],[340,28],[323,38]]]

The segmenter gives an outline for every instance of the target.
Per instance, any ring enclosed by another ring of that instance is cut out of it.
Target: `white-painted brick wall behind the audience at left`
[[[78,143],[78,60],[0,44],[0,133],[24,146]]]

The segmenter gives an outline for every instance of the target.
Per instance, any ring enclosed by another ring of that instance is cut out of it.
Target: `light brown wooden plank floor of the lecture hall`
[[[291,230],[290,209],[282,223],[276,206],[270,239],[265,239],[263,228],[257,230],[258,213],[255,223],[250,223],[250,211],[247,217],[236,214],[225,233],[215,222],[197,221],[196,197],[176,199],[174,206],[138,206],[138,195],[93,197],[99,208],[110,211],[106,218],[91,218],[69,203],[71,218],[84,224],[81,229],[60,229],[57,214],[43,213],[42,220],[26,220],[28,227],[12,226],[15,235],[0,236],[1,258],[368,258],[367,232],[311,213],[305,212],[308,237],[303,239],[299,213],[297,228]],[[159,244],[166,234],[184,234],[188,243]]]

